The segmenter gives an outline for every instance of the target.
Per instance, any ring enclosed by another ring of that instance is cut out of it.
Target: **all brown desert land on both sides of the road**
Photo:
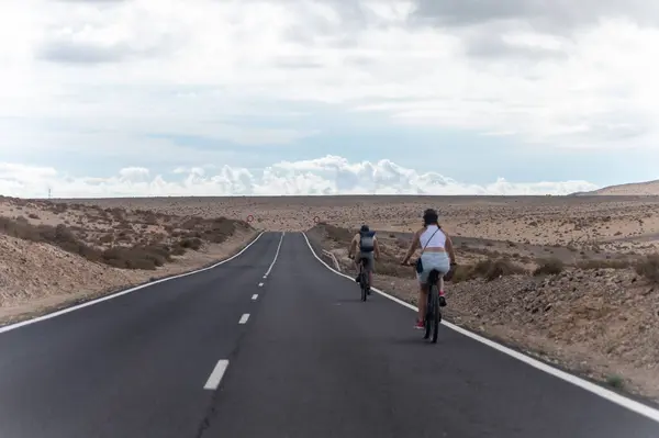
[[[351,272],[362,223],[383,246],[376,285],[415,303],[398,260],[428,206],[457,248],[447,319],[659,401],[652,196],[2,198],[0,323],[209,265],[261,229],[306,232]]]

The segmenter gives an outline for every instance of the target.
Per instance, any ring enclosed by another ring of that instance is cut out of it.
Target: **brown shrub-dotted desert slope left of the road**
[[[0,196],[0,325],[211,265],[257,234],[221,216]]]

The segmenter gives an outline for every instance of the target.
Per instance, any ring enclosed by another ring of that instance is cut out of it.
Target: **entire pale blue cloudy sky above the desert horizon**
[[[659,2],[0,2],[0,194],[659,179]]]

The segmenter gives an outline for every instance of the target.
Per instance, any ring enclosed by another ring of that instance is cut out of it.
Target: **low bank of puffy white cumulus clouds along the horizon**
[[[349,162],[336,156],[280,161],[261,171],[225,166],[216,171],[177,168],[175,177],[124,168],[110,178],[74,177],[51,168],[0,164],[0,193],[45,198],[279,194],[568,194],[595,190],[587,181],[512,183],[500,178],[479,186],[438,173],[420,173],[390,160]]]

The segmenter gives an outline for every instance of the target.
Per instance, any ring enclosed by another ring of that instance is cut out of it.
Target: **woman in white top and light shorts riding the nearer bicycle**
[[[453,243],[450,237],[444,229],[439,227],[438,215],[432,209],[428,209],[423,214],[424,227],[418,229],[414,234],[412,244],[407,254],[401,261],[401,265],[407,265],[407,261],[416,250],[422,248],[421,261],[423,265],[423,272],[417,273],[418,279],[418,318],[414,328],[423,329],[425,317],[425,306],[428,293],[428,274],[433,269],[440,272],[439,277],[439,305],[446,305],[446,297],[444,296],[444,276],[456,266],[456,254],[454,251]],[[447,254],[448,252],[448,254]]]

